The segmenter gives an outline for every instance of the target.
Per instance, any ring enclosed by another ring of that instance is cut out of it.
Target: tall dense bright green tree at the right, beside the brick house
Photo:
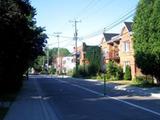
[[[160,0],[140,0],[133,38],[137,66],[160,83]]]

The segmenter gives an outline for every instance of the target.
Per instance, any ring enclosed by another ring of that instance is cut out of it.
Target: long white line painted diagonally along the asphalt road
[[[62,80],[61,80],[60,82],[62,82]],[[67,82],[67,81],[64,82],[64,80],[63,80],[63,83],[67,83],[67,84],[69,84],[69,85],[71,85],[71,86],[75,86],[75,87],[78,87],[78,88],[83,89],[83,90],[85,90],[85,91],[88,91],[88,92],[91,92],[91,93],[93,93],[93,94],[96,94],[96,95],[99,95],[99,96],[103,96],[103,97],[104,97],[104,94],[99,93],[99,92],[96,92],[96,91],[91,90],[91,89],[88,89],[88,88],[86,88],[86,87],[83,87],[83,86],[80,86],[80,85],[76,85],[76,84],[73,84],[73,83],[69,83],[69,82]],[[139,105],[136,105],[136,104],[127,102],[127,101],[125,101],[125,100],[118,99],[118,98],[116,98],[116,97],[111,97],[111,96],[108,96],[108,95],[107,95],[106,97],[108,97],[108,98],[110,98],[110,99],[113,99],[113,100],[116,100],[116,101],[119,101],[119,102],[122,102],[122,103],[125,103],[125,104],[130,105],[130,106],[133,106],[133,107],[135,107],[135,108],[138,108],[138,109],[141,109],[141,110],[150,112],[150,113],[152,113],[152,114],[155,114],[155,115],[160,116],[160,113],[158,113],[158,112],[156,112],[156,111],[153,111],[153,110],[151,110],[151,109],[148,109],[148,108],[145,108],[145,107],[142,107],[142,106],[139,106]]]

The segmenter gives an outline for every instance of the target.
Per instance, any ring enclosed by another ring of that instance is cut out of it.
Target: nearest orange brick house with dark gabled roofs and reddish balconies
[[[115,61],[125,72],[126,65],[131,67],[132,78],[141,75],[136,66],[133,49],[132,22],[124,22],[120,34],[104,33],[101,41],[102,65],[104,67],[110,60]]]

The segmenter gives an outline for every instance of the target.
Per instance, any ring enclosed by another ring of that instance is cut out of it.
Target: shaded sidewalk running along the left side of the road
[[[58,120],[43,97],[36,79],[24,81],[24,86],[4,120]]]

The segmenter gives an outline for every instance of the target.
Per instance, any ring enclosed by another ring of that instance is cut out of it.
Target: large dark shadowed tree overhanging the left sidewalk
[[[0,92],[18,88],[28,67],[44,54],[47,35],[35,15],[29,0],[0,0]]]

